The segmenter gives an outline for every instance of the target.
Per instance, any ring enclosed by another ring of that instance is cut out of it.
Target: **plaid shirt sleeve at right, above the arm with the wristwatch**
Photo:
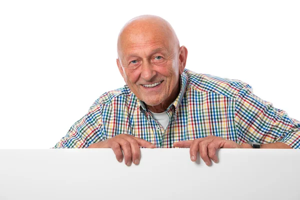
[[[235,128],[239,143],[284,142],[300,148],[300,122],[255,96],[250,85],[240,89],[236,96]]]

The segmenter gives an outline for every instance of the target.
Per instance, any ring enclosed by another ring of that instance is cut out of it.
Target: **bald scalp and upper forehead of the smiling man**
[[[169,47],[179,48],[179,41],[172,26],[155,15],[140,15],[129,20],[120,30],[117,39],[117,54],[121,57],[130,44],[163,41]]]

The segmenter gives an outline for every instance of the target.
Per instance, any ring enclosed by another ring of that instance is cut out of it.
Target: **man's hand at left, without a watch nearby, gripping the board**
[[[141,139],[139,137],[134,137],[130,134],[118,134],[114,137],[93,143],[87,148],[111,148],[115,154],[116,159],[121,162],[123,160],[123,153],[125,157],[125,164],[127,166],[131,165],[133,160],[134,164],[139,163],[140,159],[140,149],[139,146],[146,148],[155,148],[155,145],[149,141]]]

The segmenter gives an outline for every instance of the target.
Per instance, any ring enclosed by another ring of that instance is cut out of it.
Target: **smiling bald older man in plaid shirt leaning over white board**
[[[102,94],[56,148],[112,148],[130,165],[139,163],[139,147],[187,147],[192,161],[199,151],[210,165],[218,148],[300,147],[300,122],[250,85],[184,69],[187,49],[161,17],[128,21],[117,54],[126,85]]]

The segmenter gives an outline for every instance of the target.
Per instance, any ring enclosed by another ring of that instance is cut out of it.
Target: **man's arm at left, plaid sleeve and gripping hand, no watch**
[[[88,112],[69,129],[66,136],[56,143],[54,148],[111,148],[116,159],[121,162],[124,157],[126,165],[139,164],[139,147],[155,148],[149,141],[129,134],[118,134],[106,138],[102,124],[103,104],[96,100]],[[124,155],[123,155],[124,154]]]

